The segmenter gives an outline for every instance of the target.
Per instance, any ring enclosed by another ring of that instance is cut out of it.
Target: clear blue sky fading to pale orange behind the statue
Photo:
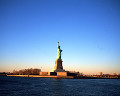
[[[0,71],[120,73],[119,0],[0,0]]]

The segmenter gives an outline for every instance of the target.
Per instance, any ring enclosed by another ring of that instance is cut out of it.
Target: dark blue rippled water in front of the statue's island
[[[0,76],[0,96],[120,96],[120,79]]]

